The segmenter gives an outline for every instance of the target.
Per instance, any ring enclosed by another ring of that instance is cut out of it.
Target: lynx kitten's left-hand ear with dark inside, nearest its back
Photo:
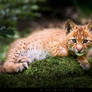
[[[66,23],[65,23],[65,30],[66,30],[66,33],[69,34],[70,32],[72,32],[74,26],[75,26],[75,23],[74,23],[72,20],[68,19],[68,20],[66,21]]]

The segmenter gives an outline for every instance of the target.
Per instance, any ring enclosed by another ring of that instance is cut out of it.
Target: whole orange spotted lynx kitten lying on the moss
[[[75,54],[78,50],[85,51],[92,44],[92,34],[89,32],[89,25],[90,23],[80,26],[72,21],[67,21],[65,25],[66,31],[59,28],[44,29],[31,34],[29,37],[13,42],[6,55],[5,63],[0,66],[0,71],[9,73],[23,71],[23,69],[28,68],[28,64],[33,62],[32,60],[35,58],[38,60],[44,59],[47,53],[50,56],[67,56],[71,48]],[[67,27],[70,28],[67,29]],[[77,43],[72,41],[74,38],[76,38]],[[83,43],[84,39],[90,41]],[[37,53],[39,56],[37,56]],[[83,69],[89,68],[86,56],[87,52],[82,56],[78,56],[78,62]]]

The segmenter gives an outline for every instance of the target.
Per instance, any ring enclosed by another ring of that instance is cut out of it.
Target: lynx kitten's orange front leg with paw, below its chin
[[[87,60],[86,56],[78,57],[78,62],[80,63],[80,66],[84,70],[88,70],[90,68],[90,64],[88,63],[88,60]]]

